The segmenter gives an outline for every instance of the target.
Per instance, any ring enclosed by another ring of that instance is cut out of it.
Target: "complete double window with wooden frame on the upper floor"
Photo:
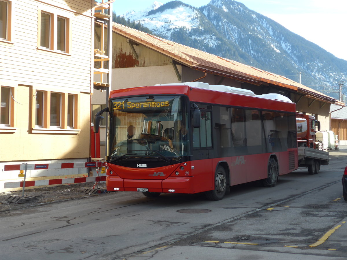
[[[37,48],[61,53],[70,51],[70,19],[39,10]]]

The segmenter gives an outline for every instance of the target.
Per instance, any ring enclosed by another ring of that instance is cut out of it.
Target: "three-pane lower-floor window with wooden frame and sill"
[[[78,94],[33,89],[33,133],[77,133]]]

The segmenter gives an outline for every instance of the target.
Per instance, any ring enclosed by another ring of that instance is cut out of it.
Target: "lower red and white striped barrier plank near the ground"
[[[39,180],[39,181],[25,181],[25,187],[53,185],[53,184],[71,184],[80,182],[99,182],[105,181],[106,176],[97,177],[77,177],[77,178],[65,178],[65,179],[51,179],[51,180]],[[18,182],[5,182],[4,188],[23,188],[23,181]]]

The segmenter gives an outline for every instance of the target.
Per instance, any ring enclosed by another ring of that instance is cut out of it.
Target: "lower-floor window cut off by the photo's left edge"
[[[14,88],[0,86],[0,132],[15,130],[14,127]]]

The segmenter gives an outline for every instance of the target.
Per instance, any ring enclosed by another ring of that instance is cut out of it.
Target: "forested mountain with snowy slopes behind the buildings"
[[[301,72],[302,84],[316,90],[347,80],[347,61],[237,1],[211,0],[200,8],[181,1],[155,1],[121,18],[114,16],[118,23],[129,19],[154,35],[295,81]]]

